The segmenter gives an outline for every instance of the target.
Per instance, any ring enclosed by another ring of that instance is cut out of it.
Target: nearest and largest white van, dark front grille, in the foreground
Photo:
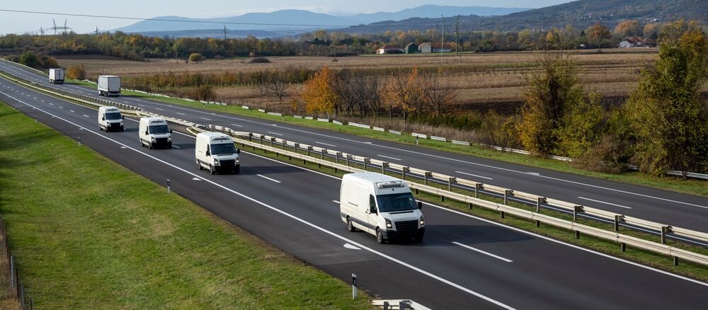
[[[339,214],[349,231],[361,229],[384,243],[395,238],[423,240],[426,221],[411,188],[397,178],[374,172],[349,173],[342,178]]]

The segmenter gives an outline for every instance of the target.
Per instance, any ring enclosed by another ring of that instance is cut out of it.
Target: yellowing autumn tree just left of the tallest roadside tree
[[[576,64],[564,54],[547,52],[540,57],[539,68],[523,78],[523,121],[518,125],[521,143],[532,154],[552,154],[566,112],[583,97]]]

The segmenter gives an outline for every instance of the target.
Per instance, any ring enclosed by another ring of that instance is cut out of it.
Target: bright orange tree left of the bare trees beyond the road
[[[305,101],[307,113],[332,113],[338,108],[338,98],[331,81],[333,81],[333,73],[329,67],[322,67],[305,82],[302,99]]]

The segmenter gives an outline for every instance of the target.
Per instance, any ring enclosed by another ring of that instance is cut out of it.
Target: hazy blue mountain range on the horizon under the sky
[[[246,13],[227,18],[185,18],[181,16],[159,16],[154,19],[170,21],[139,21],[119,30],[125,33],[181,32],[182,30],[301,30],[307,32],[316,28],[345,28],[348,25],[361,25],[379,21],[401,21],[406,18],[434,18],[442,16],[498,16],[520,12],[529,8],[492,8],[483,6],[418,6],[398,12],[379,12],[356,14],[353,16],[333,16],[304,10],[280,10],[270,13]],[[231,24],[227,24],[231,23]],[[239,24],[234,24],[239,23]],[[265,25],[292,24],[292,25]],[[312,25],[326,25],[316,27]]]

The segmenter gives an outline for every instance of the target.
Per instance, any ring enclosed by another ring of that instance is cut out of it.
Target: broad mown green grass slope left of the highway
[[[345,282],[5,104],[0,188],[38,308],[371,308]]]

